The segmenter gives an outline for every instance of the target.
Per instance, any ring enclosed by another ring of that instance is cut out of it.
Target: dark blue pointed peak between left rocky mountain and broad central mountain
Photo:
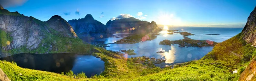
[[[79,37],[106,33],[107,30],[107,27],[95,20],[91,14],[87,14],[82,19],[69,20],[68,23],[73,27]]]

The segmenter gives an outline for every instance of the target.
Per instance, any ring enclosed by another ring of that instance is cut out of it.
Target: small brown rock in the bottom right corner
[[[256,59],[253,59],[241,73],[238,81],[256,81]]]

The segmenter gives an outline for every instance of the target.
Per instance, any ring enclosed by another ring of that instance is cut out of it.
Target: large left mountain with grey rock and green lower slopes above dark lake
[[[19,53],[87,53],[90,49],[61,16],[42,22],[5,9],[0,10],[0,39],[0,57]]]

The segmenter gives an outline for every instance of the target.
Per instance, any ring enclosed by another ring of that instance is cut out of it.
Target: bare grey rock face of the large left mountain
[[[51,38],[52,35],[62,38],[77,37],[70,24],[61,18],[61,16],[55,15],[47,22],[42,22],[32,16],[24,16],[18,12],[9,12],[5,9],[0,10],[0,30],[0,33],[2,33],[0,36],[0,41],[2,41],[0,48],[5,51],[17,48],[34,50],[38,47],[49,46],[49,44],[54,43],[54,41],[48,40],[48,43],[42,41],[45,38],[53,39]],[[41,46],[39,46],[40,44]],[[63,46],[63,48],[66,47]],[[21,52],[15,52],[15,54],[18,53]],[[45,53],[47,53],[47,51]],[[0,57],[9,55],[9,53],[0,51]]]

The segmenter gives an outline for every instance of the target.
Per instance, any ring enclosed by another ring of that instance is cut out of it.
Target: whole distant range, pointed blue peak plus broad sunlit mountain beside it
[[[156,22],[141,21],[134,17],[125,19],[109,20],[106,25],[93,19],[93,16],[87,14],[82,19],[69,20],[68,23],[73,27],[79,37],[97,35],[97,34],[113,34],[113,33],[137,33],[145,34],[160,30]]]

